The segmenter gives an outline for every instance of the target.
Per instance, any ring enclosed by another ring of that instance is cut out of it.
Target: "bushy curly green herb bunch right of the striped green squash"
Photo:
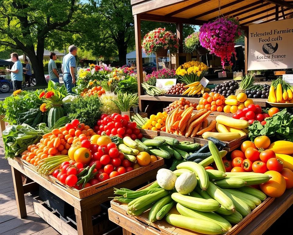
[[[101,106],[98,95],[80,96],[71,104],[68,117],[71,120],[78,119],[81,123],[93,127],[101,116]]]

